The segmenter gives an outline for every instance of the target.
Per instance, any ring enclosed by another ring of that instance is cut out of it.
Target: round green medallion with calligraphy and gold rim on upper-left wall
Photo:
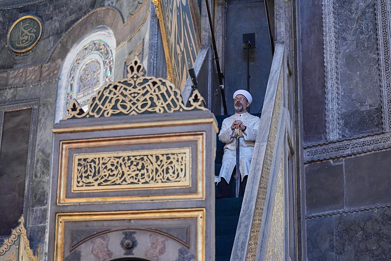
[[[41,21],[33,16],[24,16],[12,24],[8,32],[8,46],[14,52],[26,52],[38,43],[41,34]]]

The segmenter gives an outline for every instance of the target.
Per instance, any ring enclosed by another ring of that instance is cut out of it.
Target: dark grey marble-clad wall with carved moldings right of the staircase
[[[391,6],[380,2],[298,1],[308,260],[390,259],[389,47],[377,21]]]

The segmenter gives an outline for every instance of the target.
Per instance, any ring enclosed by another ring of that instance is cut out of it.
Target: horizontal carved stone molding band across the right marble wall
[[[382,133],[304,149],[304,163],[391,148],[391,133]]]

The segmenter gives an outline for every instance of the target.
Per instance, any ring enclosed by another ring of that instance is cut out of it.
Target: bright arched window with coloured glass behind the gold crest
[[[66,55],[61,69],[56,102],[56,119],[65,115],[72,99],[87,109],[89,97],[112,82],[116,40],[107,26],[98,26],[81,41],[75,43]]]

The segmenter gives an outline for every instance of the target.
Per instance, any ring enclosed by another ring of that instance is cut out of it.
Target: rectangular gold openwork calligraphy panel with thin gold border
[[[190,187],[191,148],[75,154],[72,192]]]

